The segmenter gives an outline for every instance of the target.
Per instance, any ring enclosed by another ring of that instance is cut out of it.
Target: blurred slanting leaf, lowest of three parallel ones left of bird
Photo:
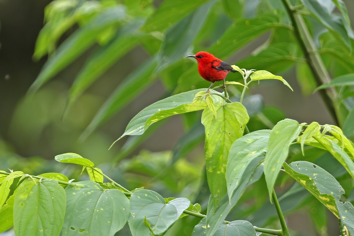
[[[89,136],[99,125],[120,111],[131,99],[155,81],[157,79],[154,74],[156,65],[156,58],[152,58],[129,74],[101,106],[81,138]]]

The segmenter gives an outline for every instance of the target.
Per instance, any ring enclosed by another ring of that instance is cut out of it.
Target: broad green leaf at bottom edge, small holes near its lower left
[[[98,183],[81,181],[68,185],[65,193],[65,235],[113,236],[127,222],[129,200],[118,189],[104,190]]]

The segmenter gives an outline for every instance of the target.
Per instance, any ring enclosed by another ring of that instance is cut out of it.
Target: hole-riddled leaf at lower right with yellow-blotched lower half
[[[334,215],[336,215],[336,217],[339,217],[336,205],[336,197],[339,195],[331,195],[332,191],[330,188],[336,190],[340,189],[341,194],[343,194],[344,191],[341,189],[341,186],[337,180],[330,173],[307,161],[292,162],[289,166],[284,162],[283,167],[286,173],[304,186],[304,188],[315,196]],[[320,186],[320,188],[317,188],[317,186]]]

